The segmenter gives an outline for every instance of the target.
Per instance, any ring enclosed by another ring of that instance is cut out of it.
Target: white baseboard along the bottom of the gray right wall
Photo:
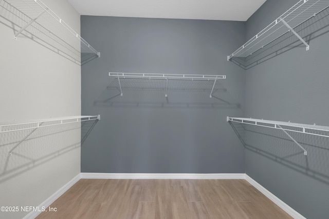
[[[277,196],[273,195],[270,191],[265,189],[261,184],[257,183],[253,180],[250,176],[245,174],[245,179],[248,181],[253,187],[258,189],[260,192],[262,192],[266,197],[268,197],[272,202],[274,202],[276,205],[278,205],[282,210],[287,212],[290,216],[294,217],[295,219],[306,219],[303,215],[295,211],[293,208],[291,208],[289,205],[285,204],[283,201],[280,200]]]

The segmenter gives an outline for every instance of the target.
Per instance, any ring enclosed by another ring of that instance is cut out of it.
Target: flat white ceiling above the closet
[[[247,21],[266,0],[68,0],[81,15]]]

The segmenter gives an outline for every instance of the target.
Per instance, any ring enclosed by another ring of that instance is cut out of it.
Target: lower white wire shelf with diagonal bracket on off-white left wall
[[[8,152],[8,156],[11,156],[11,152],[15,148],[17,148],[20,144],[22,144],[22,142],[24,142],[26,140],[26,138],[28,138],[28,136],[30,136],[36,129],[50,127],[50,126],[70,124],[70,123],[100,120],[100,118],[101,118],[100,115],[85,115],[85,116],[70,116],[70,117],[62,117],[62,118],[53,118],[50,120],[28,122],[28,123],[4,124],[4,125],[0,125],[0,134],[31,129],[31,131]]]

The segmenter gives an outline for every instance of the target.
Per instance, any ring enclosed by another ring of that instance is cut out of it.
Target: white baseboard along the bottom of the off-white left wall
[[[60,188],[57,192],[53,193],[50,197],[46,199],[43,203],[39,205],[39,208],[41,209],[42,207],[47,208],[50,206],[57,198],[59,198],[64,192],[66,192],[69,188],[71,188],[74,184],[76,184],[80,178],[81,178],[81,173],[79,173],[77,176],[72,178],[67,184],[65,184],[62,188]],[[29,214],[27,214],[23,219],[33,219],[36,216],[38,216],[41,212],[39,211],[31,211]]]

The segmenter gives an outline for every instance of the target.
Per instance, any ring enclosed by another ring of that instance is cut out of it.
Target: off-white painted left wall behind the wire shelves
[[[80,16],[66,0],[43,1],[68,25],[80,32]],[[3,2],[2,2],[3,3]],[[81,66],[42,41],[38,31],[22,32],[14,41],[18,19],[0,13],[0,121],[21,122],[80,115]],[[9,18],[9,20],[8,20]],[[11,20],[12,19],[12,20]],[[8,151],[28,131],[0,134],[0,206],[18,212],[0,212],[1,218],[22,218],[80,173],[80,125],[40,128],[8,157]]]

